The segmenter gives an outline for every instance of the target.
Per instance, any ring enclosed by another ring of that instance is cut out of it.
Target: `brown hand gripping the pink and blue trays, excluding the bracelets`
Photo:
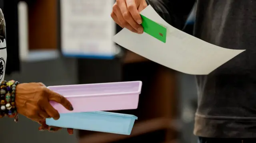
[[[71,103],[64,96],[53,92],[42,83],[22,83],[16,87],[17,112],[32,120],[60,118],[58,111],[50,104],[51,100],[62,104],[70,111],[73,110]]]

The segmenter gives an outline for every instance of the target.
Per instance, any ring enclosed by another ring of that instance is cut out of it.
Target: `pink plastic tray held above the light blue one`
[[[71,102],[72,112],[136,109],[141,87],[141,81],[48,86]],[[59,113],[70,113],[61,104],[50,103]]]

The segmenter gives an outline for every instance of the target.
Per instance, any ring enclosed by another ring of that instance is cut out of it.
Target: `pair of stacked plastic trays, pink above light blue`
[[[50,102],[60,113],[60,119],[46,119],[46,124],[130,135],[136,116],[104,111],[136,109],[141,87],[141,81],[49,86],[66,97],[74,110],[68,111],[61,104]]]

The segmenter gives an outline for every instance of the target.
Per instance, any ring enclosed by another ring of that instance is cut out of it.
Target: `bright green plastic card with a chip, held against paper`
[[[156,39],[166,43],[166,27],[142,16],[142,27],[144,28],[144,32],[148,33],[149,35],[155,37]]]

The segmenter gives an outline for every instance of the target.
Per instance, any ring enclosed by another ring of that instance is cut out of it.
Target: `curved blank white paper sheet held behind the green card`
[[[140,35],[126,28],[117,33],[113,41],[170,69],[205,75],[245,51],[222,48],[180,31],[165,22],[152,6],[140,14],[167,28],[166,43],[145,32]]]

